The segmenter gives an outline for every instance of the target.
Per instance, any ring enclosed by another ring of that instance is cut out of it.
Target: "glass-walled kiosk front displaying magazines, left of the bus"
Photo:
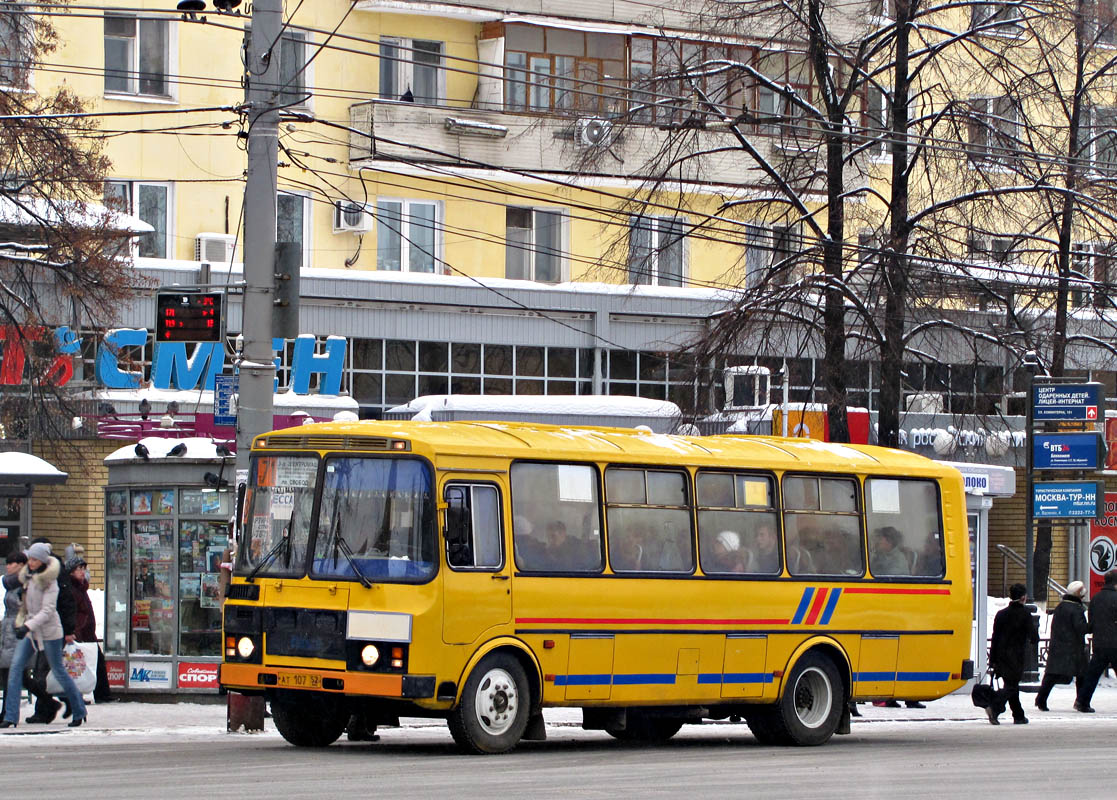
[[[189,486],[108,487],[109,657],[220,658],[220,571],[231,546],[231,497]]]

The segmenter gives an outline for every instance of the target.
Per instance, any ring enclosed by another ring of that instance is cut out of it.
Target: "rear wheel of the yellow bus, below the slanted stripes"
[[[786,744],[824,744],[838,731],[844,705],[838,668],[822,654],[809,651],[795,663],[773,708],[773,732]]]

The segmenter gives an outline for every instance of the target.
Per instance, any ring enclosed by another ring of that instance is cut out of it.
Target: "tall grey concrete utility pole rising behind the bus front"
[[[283,0],[255,0],[248,37],[248,174],[245,181],[245,295],[240,330],[237,469],[248,469],[252,439],[273,427],[275,363],[271,311],[275,285],[276,189],[279,150],[279,34]]]

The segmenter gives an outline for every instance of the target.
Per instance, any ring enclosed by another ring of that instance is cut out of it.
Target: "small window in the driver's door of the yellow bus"
[[[500,495],[495,486],[446,487],[446,561],[455,569],[499,569]]]

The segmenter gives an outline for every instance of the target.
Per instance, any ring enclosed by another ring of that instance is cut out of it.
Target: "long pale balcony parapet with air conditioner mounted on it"
[[[685,152],[709,151],[676,166],[669,178],[729,185],[761,184],[763,173],[724,131],[666,131],[653,125],[614,126],[605,117],[553,116],[505,111],[421,106],[370,101],[350,106],[350,162],[436,163],[526,173],[623,178],[658,175],[671,136],[693,136]],[[798,151],[753,136],[762,154],[783,165]],[[723,151],[724,149],[724,151]],[[812,158],[813,156],[808,156]]]

